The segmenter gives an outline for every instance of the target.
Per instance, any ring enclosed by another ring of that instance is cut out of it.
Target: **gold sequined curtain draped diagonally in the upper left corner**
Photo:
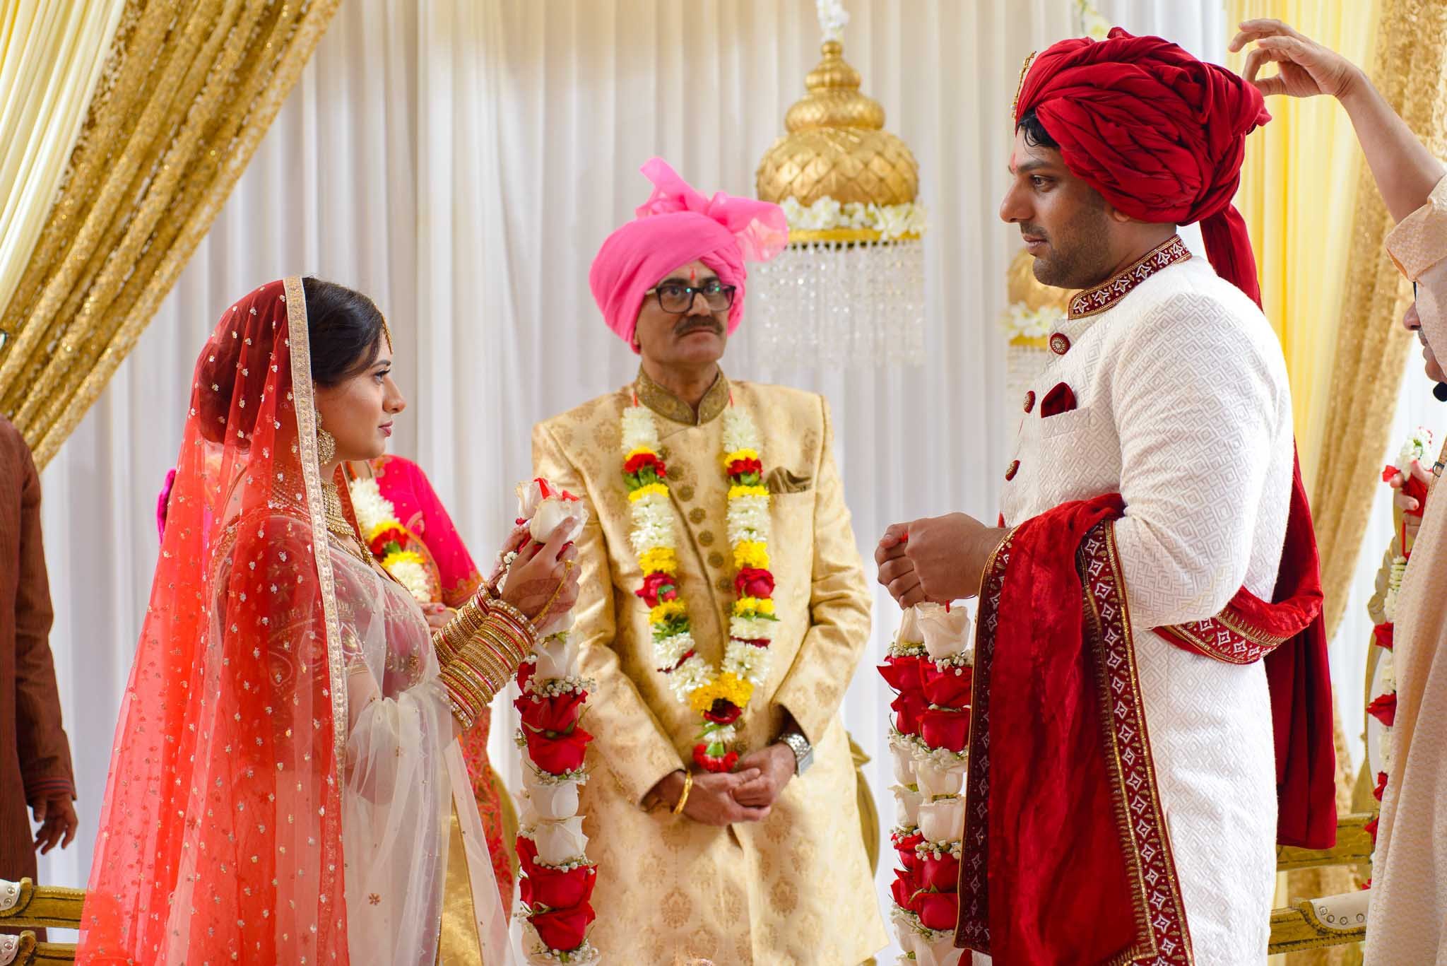
[[[62,187],[0,307],[0,413],[38,463],[135,346],[339,1],[126,1]]]

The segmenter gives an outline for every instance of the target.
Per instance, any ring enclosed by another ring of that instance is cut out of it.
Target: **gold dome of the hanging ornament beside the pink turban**
[[[844,45],[826,39],[809,71],[807,94],[784,116],[787,135],[764,152],[757,190],[764,201],[819,198],[839,204],[906,204],[919,194],[919,164],[903,140],[884,130],[884,109],[860,93],[860,72]]]

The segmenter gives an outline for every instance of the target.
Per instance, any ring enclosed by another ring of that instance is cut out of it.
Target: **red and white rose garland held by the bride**
[[[587,507],[566,490],[534,479],[518,488],[518,545],[499,562],[506,568],[528,543],[547,543],[559,527],[573,537]],[[501,582],[499,582],[501,584]],[[522,810],[518,828],[518,885],[522,894],[524,953],[528,963],[587,966],[599,960],[587,941],[598,870],[587,860],[587,836],[577,814],[579,786],[587,782],[583,756],[593,736],[579,727],[590,681],[579,673],[572,613],[538,629],[532,655],[518,668],[514,707],[521,715]]]

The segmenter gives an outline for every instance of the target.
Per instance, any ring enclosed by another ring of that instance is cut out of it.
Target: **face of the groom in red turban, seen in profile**
[[[1014,133],[1000,217],[1020,226],[1042,284],[1090,288],[1110,277],[1113,224],[1106,200],[1071,174],[1058,148],[1029,143],[1024,129]]]

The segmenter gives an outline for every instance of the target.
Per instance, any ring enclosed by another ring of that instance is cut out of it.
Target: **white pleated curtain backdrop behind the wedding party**
[[[1004,398],[997,324],[1004,268],[1019,246],[996,214],[1009,109],[1023,56],[1072,33],[1074,6],[848,3],[845,56],[920,162],[932,362],[781,366],[754,352],[745,319],[725,369],[828,395],[867,559],[894,520],[949,510],[994,517],[1019,406]],[[1221,58],[1215,0],[1097,6],[1134,33],[1165,33]],[[635,356],[599,320],[587,266],[647,196],[638,165],[657,154],[700,190],[752,194],[758,158],[818,56],[807,0],[341,6],[175,291],[45,472],[52,646],[81,833],[43,862],[43,879],[85,882],[155,565],[155,495],[179,445],[195,353],[218,313],[292,272],[373,295],[411,400],[396,450],[423,463],[485,560],[512,516],[514,484],[530,475],[532,423],[635,371]],[[873,563],[867,569],[873,576]],[[870,658],[844,705],[875,759],[868,778],[886,827],[888,694],[873,663],[896,613],[877,595]],[[1365,653],[1366,634],[1356,637]],[[495,760],[515,788],[511,708],[498,705]],[[890,857],[881,857],[881,898]]]

